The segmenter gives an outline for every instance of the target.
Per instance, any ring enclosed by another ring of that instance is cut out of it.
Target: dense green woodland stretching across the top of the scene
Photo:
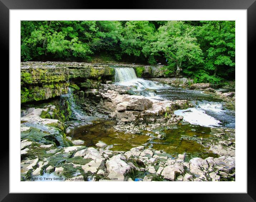
[[[220,83],[235,79],[235,21],[21,21],[21,60],[161,63]]]

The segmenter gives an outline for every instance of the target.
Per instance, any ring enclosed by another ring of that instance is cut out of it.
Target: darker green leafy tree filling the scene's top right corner
[[[202,21],[197,38],[205,54],[205,70],[228,77],[235,71],[235,21]]]

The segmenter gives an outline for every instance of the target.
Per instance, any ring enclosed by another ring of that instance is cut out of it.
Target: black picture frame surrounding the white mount
[[[126,4],[126,5],[125,5]],[[253,47],[255,47],[256,36],[256,0],[137,0],[129,1],[125,4],[121,2],[109,1],[80,1],[80,0],[0,0],[0,49],[2,60],[9,58],[9,10],[10,9],[245,9],[247,10],[247,58],[248,64],[253,64],[255,58]],[[18,47],[17,47],[18,48]],[[9,61],[6,60],[6,67]],[[255,66],[255,65],[253,65]],[[252,66],[252,67],[253,67]],[[247,67],[245,67],[247,68]],[[6,68],[5,70],[7,70]],[[7,74],[9,74],[7,72]],[[9,75],[10,76],[10,75]],[[8,92],[6,92],[6,97]],[[248,103],[249,104],[249,103]],[[11,106],[9,106],[10,108]],[[247,108],[244,110],[247,111]],[[247,173],[255,172],[255,158],[252,150],[255,147],[253,136],[247,136]],[[7,135],[2,135],[2,141],[9,142]],[[9,146],[2,148],[0,162],[0,200],[2,201],[51,201],[52,194],[14,194],[9,193]],[[251,150],[251,152],[250,152]],[[249,176],[249,175],[248,175]],[[256,175],[247,177],[247,193],[209,193],[209,194],[182,194],[182,200],[197,201],[256,201]],[[29,192],[29,190],[28,190]],[[114,191],[113,191],[114,192]],[[209,190],[210,192],[210,190]],[[128,194],[127,194],[128,195]],[[151,195],[148,195],[151,197]],[[77,196],[76,196],[77,197]],[[109,197],[109,196],[107,196]],[[138,197],[138,196],[137,196]],[[180,196],[181,197],[181,196]],[[61,197],[62,199],[64,197]],[[75,199],[65,195],[65,200]],[[93,200],[91,196],[87,197]],[[104,197],[105,198],[105,197]],[[113,199],[113,197],[110,197]],[[122,196],[122,200],[129,200],[129,196]],[[143,196],[144,200],[147,200]],[[61,199],[61,200],[62,200]],[[118,199],[118,197],[117,197]],[[134,198],[132,197],[131,200]],[[137,198],[139,199],[139,198]],[[173,199],[173,198],[172,198]],[[96,199],[95,199],[96,200]],[[170,198],[171,200],[171,198]]]

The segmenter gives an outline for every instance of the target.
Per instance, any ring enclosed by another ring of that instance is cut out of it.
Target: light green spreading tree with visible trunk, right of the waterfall
[[[176,74],[182,71],[182,64],[188,61],[200,64],[202,61],[202,50],[191,34],[193,28],[181,21],[168,21],[166,25],[160,26],[151,44],[152,54],[162,52],[168,63],[168,72]]]

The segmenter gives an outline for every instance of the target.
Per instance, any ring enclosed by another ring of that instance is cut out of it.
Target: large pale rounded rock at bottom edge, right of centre
[[[171,166],[166,166],[161,175],[167,179],[167,180],[171,180],[174,181],[175,180],[175,176],[177,175],[181,175],[184,172],[184,168],[182,165],[178,164],[178,163],[174,163]]]

